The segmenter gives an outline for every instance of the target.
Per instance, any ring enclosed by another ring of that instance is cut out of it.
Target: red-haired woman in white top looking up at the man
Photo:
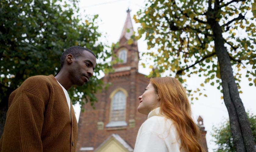
[[[151,78],[139,97],[140,126],[134,152],[201,152],[200,131],[191,118],[186,90],[175,78]]]

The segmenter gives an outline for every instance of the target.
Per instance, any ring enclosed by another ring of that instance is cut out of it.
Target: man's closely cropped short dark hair
[[[68,54],[72,54],[74,58],[78,58],[78,57],[82,56],[83,51],[88,51],[96,57],[96,55],[91,50],[89,50],[85,47],[80,47],[80,46],[69,47],[62,53],[62,56],[60,58],[60,68],[63,67],[66,56]]]

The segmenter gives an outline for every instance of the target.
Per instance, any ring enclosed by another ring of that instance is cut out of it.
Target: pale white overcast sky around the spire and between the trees
[[[111,45],[119,41],[121,31],[127,16],[126,10],[131,9],[131,17],[136,14],[136,12],[145,7],[144,0],[80,0],[80,13],[83,15],[99,15],[99,32],[102,32],[106,35],[107,38],[102,38],[101,41]],[[134,30],[139,25],[136,25],[133,21]],[[147,50],[147,45],[145,41],[138,41],[139,52]],[[143,57],[141,57],[143,58]],[[141,63],[141,62],[140,62]],[[139,63],[139,64],[140,64]],[[141,65],[139,66],[139,72],[143,74],[148,74],[148,70],[144,69]],[[243,77],[245,72],[243,73]],[[187,79],[187,84],[189,88],[199,88],[200,84],[204,81],[204,78],[198,78],[197,76]],[[256,87],[249,87],[247,79],[244,77],[241,81],[241,88],[243,94],[240,94],[240,97],[244,103],[246,111],[256,114],[256,102],[255,102],[255,93]],[[145,86],[146,87],[146,86]],[[212,152],[212,149],[215,148],[215,144],[211,141],[213,140],[212,126],[220,126],[220,124],[228,119],[228,112],[226,106],[221,99],[222,94],[217,90],[216,86],[205,85],[205,94],[208,97],[200,96],[199,100],[193,101],[194,104],[191,105],[194,120],[197,122],[197,118],[200,115],[204,120],[205,130],[207,131],[206,140],[208,144],[209,152]],[[75,106],[76,117],[78,119],[80,108],[79,105]]]

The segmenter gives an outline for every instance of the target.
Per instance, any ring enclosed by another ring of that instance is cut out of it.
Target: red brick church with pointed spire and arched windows
[[[138,97],[143,94],[149,78],[138,72],[139,51],[137,41],[128,44],[133,34],[130,10],[119,39],[119,47],[113,53],[121,59],[113,65],[115,72],[105,74],[105,83],[112,83],[96,95],[95,109],[84,105],[78,123],[77,151],[132,152],[140,125],[147,119],[137,111]],[[112,57],[112,60],[114,58]],[[202,118],[198,118],[202,130],[202,143],[207,151],[206,131]]]

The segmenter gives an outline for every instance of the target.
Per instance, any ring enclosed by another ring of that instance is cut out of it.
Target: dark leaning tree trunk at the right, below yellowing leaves
[[[226,47],[224,47],[222,29],[215,19],[209,19],[208,23],[210,24],[214,35],[215,52],[220,66],[223,98],[229,113],[230,129],[236,151],[254,152],[256,151],[254,147],[254,138],[233,76],[229,54]]]

